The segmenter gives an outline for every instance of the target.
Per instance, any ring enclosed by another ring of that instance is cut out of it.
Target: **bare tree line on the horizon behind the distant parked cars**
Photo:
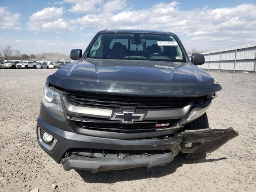
[[[5,48],[0,48],[0,60],[55,60],[55,59],[70,59],[69,56],[61,53],[40,53],[26,54],[21,50],[13,50],[12,46],[8,45]]]

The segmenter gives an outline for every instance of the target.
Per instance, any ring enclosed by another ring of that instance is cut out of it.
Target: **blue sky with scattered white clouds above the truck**
[[[0,0],[0,47],[85,50],[103,29],[170,31],[187,51],[256,42],[256,0]]]

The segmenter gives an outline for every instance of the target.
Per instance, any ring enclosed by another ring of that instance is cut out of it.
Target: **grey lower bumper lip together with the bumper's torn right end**
[[[210,153],[236,136],[238,136],[238,133],[233,128],[186,130],[163,141],[164,144],[170,146],[171,151],[164,152],[164,154],[120,159],[118,156],[104,158],[104,155],[102,158],[91,158],[90,156],[80,156],[78,153],[64,158],[62,163],[64,170],[80,169],[91,170],[92,172],[120,170],[140,166],[164,166],[170,163],[179,152]]]

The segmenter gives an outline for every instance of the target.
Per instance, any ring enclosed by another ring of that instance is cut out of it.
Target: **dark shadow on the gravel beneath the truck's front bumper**
[[[117,171],[105,171],[92,173],[90,171],[76,170],[76,172],[82,177],[87,183],[116,183],[120,181],[140,180],[146,178],[160,178],[168,174],[176,172],[177,168],[183,166],[183,164],[196,164],[196,163],[207,163],[225,160],[226,157],[218,159],[206,159],[201,158],[200,160],[185,160],[182,156],[178,155],[174,158],[174,161],[167,164],[166,166],[158,166],[154,168],[133,168],[127,170]]]

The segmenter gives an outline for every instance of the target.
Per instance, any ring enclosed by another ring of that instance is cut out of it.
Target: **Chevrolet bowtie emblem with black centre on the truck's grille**
[[[133,111],[114,112],[110,120],[122,121],[122,123],[134,123],[135,121],[143,121],[146,114],[136,114]]]

